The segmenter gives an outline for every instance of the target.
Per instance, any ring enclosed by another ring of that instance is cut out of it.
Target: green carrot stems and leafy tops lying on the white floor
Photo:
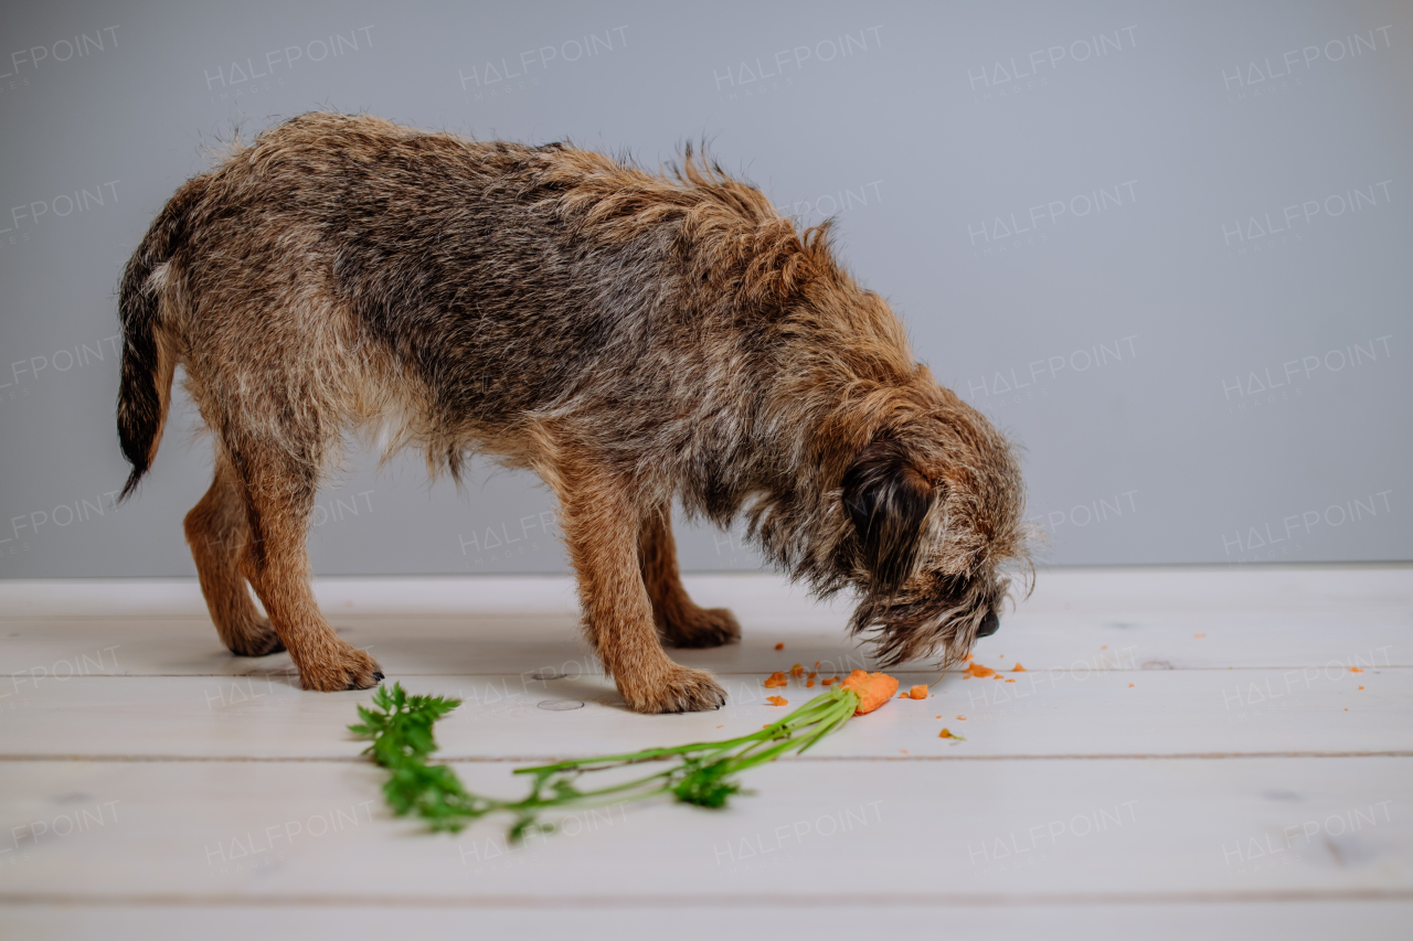
[[[428,763],[437,750],[432,726],[458,705],[461,699],[408,695],[394,682],[391,690],[379,687],[373,694],[374,708],[357,708],[362,722],[350,725],[349,730],[373,740],[363,753],[387,769],[383,794],[398,817],[411,814],[434,831],[458,832],[482,817],[504,812],[513,818],[510,839],[517,841],[530,832],[554,829],[552,822],[541,821],[545,811],[588,810],[658,794],[671,794],[698,807],[725,807],[732,794],[749,793],[742,791],[736,774],[781,754],[805,752],[849,721],[859,697],[852,690],[835,687],[779,722],[725,742],[694,742],[519,769],[516,774],[530,777],[530,793],[519,801],[473,794],[462,787],[451,767]],[[620,784],[581,787],[585,774],[649,762],[668,764]]]

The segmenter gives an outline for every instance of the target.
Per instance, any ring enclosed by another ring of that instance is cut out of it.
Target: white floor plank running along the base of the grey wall
[[[759,585],[756,586],[760,588]],[[743,640],[718,650],[674,651],[681,663],[722,673],[788,668],[814,661],[835,668],[868,665],[866,646],[846,634],[841,608],[760,613],[755,602],[732,603]],[[777,599],[779,600],[779,599]],[[767,608],[767,606],[766,606]],[[495,675],[541,668],[577,671],[592,661],[578,615],[565,612],[356,615],[329,609],[329,620],[379,657],[387,673]],[[1330,664],[1413,665],[1407,610],[1349,608],[1338,615],[1293,612],[1125,612],[1087,615],[1022,606],[1000,632],[983,639],[978,660],[992,667],[1022,663],[1036,670],[1184,670],[1226,667],[1306,668]],[[1338,629],[1331,625],[1338,623]],[[784,643],[781,651],[774,644]],[[0,675],[242,675],[290,663],[288,656],[232,657],[202,612],[198,616],[124,615],[11,617],[0,622]],[[578,665],[577,665],[578,664]],[[926,668],[927,664],[913,664]]]

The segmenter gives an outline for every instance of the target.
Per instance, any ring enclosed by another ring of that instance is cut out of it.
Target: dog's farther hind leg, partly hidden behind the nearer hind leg
[[[250,541],[250,524],[240,483],[220,448],[216,449],[216,476],[206,496],[187,514],[185,528],[201,593],[206,596],[222,643],[242,657],[284,650],[274,627],[256,610],[246,576],[240,574],[240,554]]]

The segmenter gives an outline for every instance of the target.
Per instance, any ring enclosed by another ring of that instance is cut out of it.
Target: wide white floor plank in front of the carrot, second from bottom
[[[473,790],[519,791],[506,764],[458,771]],[[520,848],[503,821],[421,835],[387,817],[379,781],[367,764],[0,763],[0,900],[1413,899],[1407,757],[784,762],[725,811],[608,808]]]

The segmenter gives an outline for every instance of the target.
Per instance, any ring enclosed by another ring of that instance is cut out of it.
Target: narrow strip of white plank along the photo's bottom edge
[[[623,941],[661,937],[671,925],[674,941],[719,941],[723,931],[745,928],[766,938],[831,935],[935,937],[941,925],[950,937],[992,941],[1067,938],[1390,938],[1413,917],[1406,901],[1306,901],[1301,904],[1187,903],[1187,904],[798,904],[738,903],[711,906],[558,906],[538,899],[533,906],[458,904],[363,906],[341,899],[336,906],[222,904],[222,906],[3,906],[0,917],[17,938],[102,937],[112,941],[151,938],[209,938],[249,941],[280,934],[300,938],[336,937],[341,941],[386,941],[390,937],[562,937],[578,941]]]

